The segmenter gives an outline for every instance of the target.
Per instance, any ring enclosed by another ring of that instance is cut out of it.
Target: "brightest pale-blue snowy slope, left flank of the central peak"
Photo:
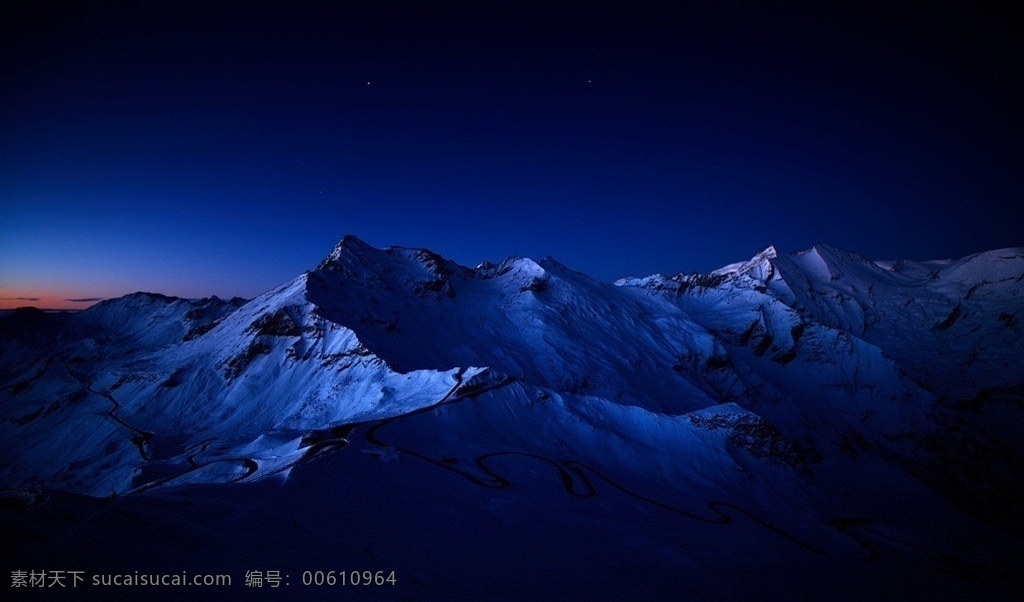
[[[318,315],[305,278],[241,307],[136,294],[54,316],[70,340],[11,354],[0,478],[106,496],[253,476],[300,458],[315,429],[402,414],[457,384],[456,369],[390,370]]]

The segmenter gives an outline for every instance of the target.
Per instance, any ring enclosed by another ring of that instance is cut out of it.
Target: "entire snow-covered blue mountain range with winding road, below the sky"
[[[190,552],[142,562],[400,567],[383,599],[988,595],[1020,585],[1022,322],[1024,249],[769,248],[609,285],[346,236],[251,301],[0,320],[5,546],[46,558],[85,507],[81,550],[173,532]],[[162,510],[184,499],[204,511]],[[81,562],[140,562],[106,558]]]

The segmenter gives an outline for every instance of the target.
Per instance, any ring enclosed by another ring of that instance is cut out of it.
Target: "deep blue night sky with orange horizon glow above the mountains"
[[[0,8],[0,307],[253,296],[345,233],[605,281],[1024,245],[978,3],[85,4]]]

